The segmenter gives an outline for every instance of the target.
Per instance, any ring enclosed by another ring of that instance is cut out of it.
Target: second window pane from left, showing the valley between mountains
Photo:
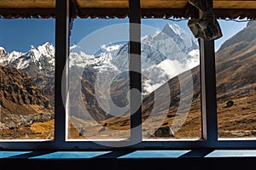
[[[130,137],[127,19],[77,19],[69,56],[68,139]]]

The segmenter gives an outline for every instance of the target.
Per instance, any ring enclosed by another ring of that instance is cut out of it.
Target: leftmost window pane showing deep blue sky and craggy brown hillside
[[[0,20],[0,139],[53,139],[55,20]]]

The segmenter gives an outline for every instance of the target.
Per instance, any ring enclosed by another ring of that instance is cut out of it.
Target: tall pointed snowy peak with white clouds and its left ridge
[[[118,49],[100,54],[98,57],[104,62],[96,67],[106,72],[101,67],[108,63],[109,72],[128,71],[128,48],[129,44],[126,43]],[[199,65],[199,48],[195,38],[180,26],[166,24],[162,31],[142,38],[141,57],[143,95],[146,95],[172,77]],[[106,80],[109,78],[106,77]]]

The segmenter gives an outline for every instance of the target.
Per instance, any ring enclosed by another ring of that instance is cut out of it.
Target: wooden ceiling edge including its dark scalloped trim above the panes
[[[0,17],[55,17],[56,0],[0,0]],[[73,16],[81,18],[125,18],[129,13],[128,0],[70,0]],[[141,0],[142,17],[183,17],[188,0]],[[237,16],[256,18],[256,0],[213,0],[218,17]],[[188,15],[186,15],[187,17]]]

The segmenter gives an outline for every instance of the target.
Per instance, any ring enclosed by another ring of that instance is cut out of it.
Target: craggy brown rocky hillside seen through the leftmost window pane
[[[9,66],[0,66],[0,137],[6,130],[30,127],[35,122],[47,122],[54,118],[53,107],[35,78]],[[14,133],[20,136],[19,133]]]

